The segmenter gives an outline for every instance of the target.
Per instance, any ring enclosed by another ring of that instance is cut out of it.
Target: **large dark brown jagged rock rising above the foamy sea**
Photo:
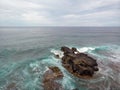
[[[95,59],[87,54],[80,53],[76,48],[61,47],[64,52],[62,65],[74,76],[79,78],[91,78],[98,71]]]

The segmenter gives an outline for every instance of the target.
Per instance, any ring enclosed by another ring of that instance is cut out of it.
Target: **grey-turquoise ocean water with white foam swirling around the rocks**
[[[54,54],[76,47],[97,59],[90,80],[73,77]],[[1,27],[0,90],[43,90],[49,66],[64,74],[64,90],[120,90],[120,27]]]

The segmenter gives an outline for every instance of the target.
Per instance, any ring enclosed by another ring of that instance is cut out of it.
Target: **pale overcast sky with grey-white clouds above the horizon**
[[[0,26],[120,26],[120,0],[0,0]]]

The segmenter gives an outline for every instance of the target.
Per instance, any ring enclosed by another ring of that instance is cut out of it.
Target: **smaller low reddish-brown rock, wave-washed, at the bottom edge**
[[[44,74],[44,90],[63,90],[62,85],[58,82],[63,78],[63,74],[58,67],[49,67]]]

